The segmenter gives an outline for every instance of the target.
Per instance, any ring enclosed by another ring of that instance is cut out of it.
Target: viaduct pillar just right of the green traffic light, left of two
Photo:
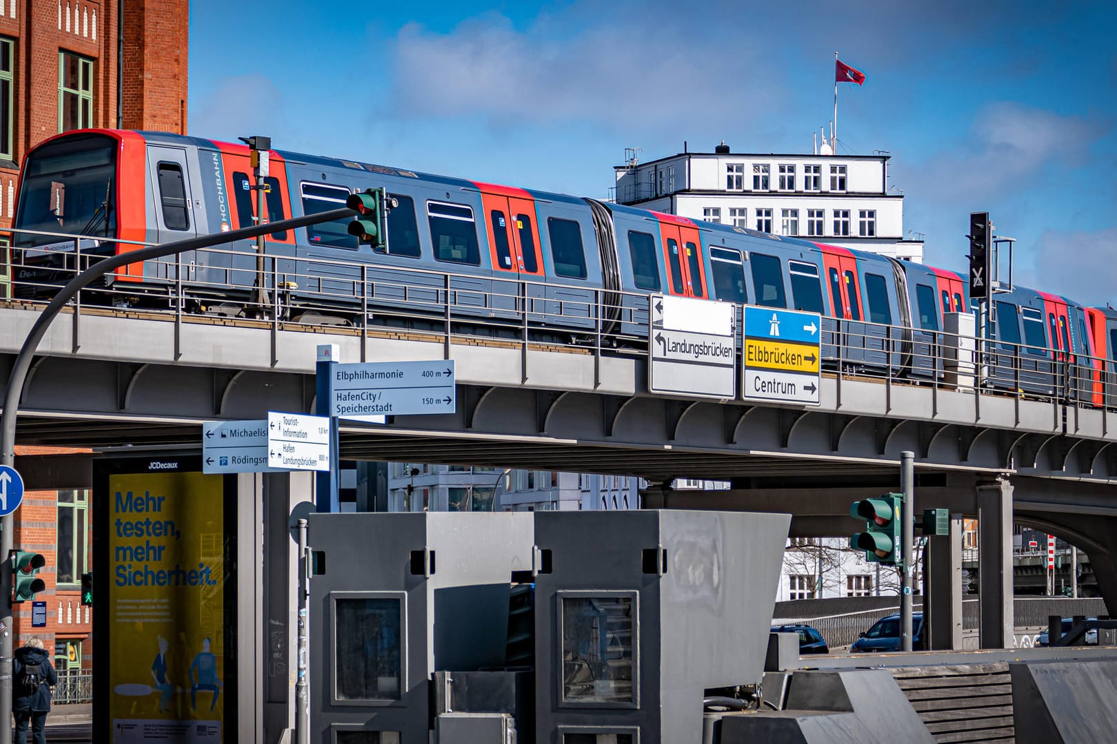
[[[924,634],[928,650],[962,648],[962,514],[951,513],[951,533],[924,549]]]

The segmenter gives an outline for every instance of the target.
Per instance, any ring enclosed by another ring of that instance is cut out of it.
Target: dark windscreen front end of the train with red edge
[[[115,239],[143,239],[126,229],[136,207],[143,219],[142,185],[121,195],[122,171],[142,173],[143,161],[139,135],[105,129],[58,135],[27,154],[12,231],[16,297],[54,297],[93,257],[115,254]]]

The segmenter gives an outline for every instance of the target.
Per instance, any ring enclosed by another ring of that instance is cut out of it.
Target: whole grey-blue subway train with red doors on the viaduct
[[[449,298],[457,322],[515,330],[526,319],[533,334],[608,334],[638,348],[646,296],[663,293],[819,312],[825,367],[916,383],[943,376],[946,315],[972,309],[954,271],[822,242],[356,161],[283,151],[269,161],[270,222],[385,187],[395,200],[386,250],[360,244],[347,220],[326,222],[269,235],[266,276],[255,241],[239,241],[122,267],[98,286],[104,297],[153,306],[184,296],[189,310],[240,315],[262,283],[289,320],[413,327],[437,327]],[[13,224],[85,235],[88,261],[251,226],[254,183],[246,145],[69,132],[27,154]],[[17,232],[12,244],[17,297],[49,297],[73,274],[73,240]],[[983,385],[1108,402],[1117,313],[1022,287],[990,306]]]

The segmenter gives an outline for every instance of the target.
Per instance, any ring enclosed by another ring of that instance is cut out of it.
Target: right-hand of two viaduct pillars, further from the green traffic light
[[[977,628],[981,648],[1012,648],[1012,484],[1008,479],[977,484]]]

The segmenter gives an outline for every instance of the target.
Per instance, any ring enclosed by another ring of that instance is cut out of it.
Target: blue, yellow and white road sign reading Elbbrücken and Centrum
[[[818,405],[821,326],[815,312],[745,307],[741,397]]]

